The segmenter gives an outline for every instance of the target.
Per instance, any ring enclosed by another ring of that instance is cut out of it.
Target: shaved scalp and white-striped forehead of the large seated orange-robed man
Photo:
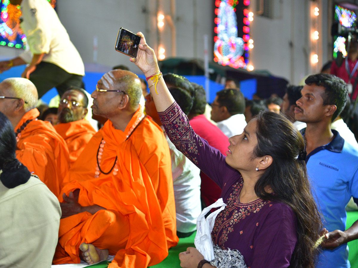
[[[112,70],[104,74],[101,80],[106,88],[112,85],[114,89],[123,90],[129,97],[131,108],[138,107],[142,95],[142,85],[136,74],[126,70]]]

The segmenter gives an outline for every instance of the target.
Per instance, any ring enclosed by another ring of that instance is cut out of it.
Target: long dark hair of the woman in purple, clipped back
[[[257,115],[257,145],[253,157],[271,155],[270,167],[256,182],[255,193],[266,200],[289,205],[297,219],[297,244],[290,268],[313,268],[318,249],[313,249],[322,229],[320,213],[311,193],[306,163],[298,158],[304,139],[281,114],[261,111]],[[273,193],[266,192],[271,187]]]

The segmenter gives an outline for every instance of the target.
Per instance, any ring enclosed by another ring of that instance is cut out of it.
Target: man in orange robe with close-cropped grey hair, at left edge
[[[28,79],[8,78],[0,83],[0,111],[14,127],[16,157],[58,196],[69,168],[68,148],[50,122],[37,120],[37,100],[37,89]]]

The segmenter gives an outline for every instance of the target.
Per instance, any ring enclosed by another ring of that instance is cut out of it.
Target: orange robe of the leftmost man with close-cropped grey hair
[[[36,119],[39,111],[28,111],[16,125],[15,131],[27,120]],[[60,193],[62,180],[69,169],[69,154],[66,142],[50,122],[32,120],[18,135],[16,158],[56,196]]]

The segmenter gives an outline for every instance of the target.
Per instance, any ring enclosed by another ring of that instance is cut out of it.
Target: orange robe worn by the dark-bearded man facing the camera
[[[60,123],[55,125],[54,128],[67,143],[70,165],[77,160],[84,147],[86,147],[89,140],[96,133],[96,130],[86,119]]]

